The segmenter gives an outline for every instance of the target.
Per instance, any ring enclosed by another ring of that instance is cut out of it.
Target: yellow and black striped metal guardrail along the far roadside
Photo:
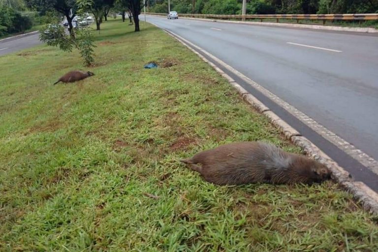
[[[167,16],[165,13],[148,13],[151,15]],[[349,21],[364,21],[364,20],[378,20],[378,13],[373,14],[282,14],[282,15],[214,15],[214,14],[179,14],[179,17],[188,17],[188,18],[213,18],[213,19],[260,19],[262,22],[264,19],[276,19],[276,22],[279,23],[280,19],[293,19],[297,23],[300,20],[322,20],[323,25],[327,20],[349,20]]]

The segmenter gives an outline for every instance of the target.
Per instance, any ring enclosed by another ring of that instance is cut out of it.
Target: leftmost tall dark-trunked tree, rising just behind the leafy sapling
[[[72,37],[75,36],[72,20],[76,16],[76,0],[25,0],[25,2],[29,7],[34,7],[38,11],[55,9],[56,11],[62,13],[67,19],[69,33]]]

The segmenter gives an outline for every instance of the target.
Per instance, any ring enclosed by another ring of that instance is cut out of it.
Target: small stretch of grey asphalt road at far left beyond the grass
[[[0,41],[0,56],[41,44],[38,36],[38,33],[34,33]]]

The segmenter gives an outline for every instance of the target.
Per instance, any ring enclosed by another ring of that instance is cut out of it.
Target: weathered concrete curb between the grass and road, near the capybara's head
[[[156,25],[157,26],[157,25]],[[225,77],[228,82],[238,91],[239,95],[252,105],[257,111],[266,116],[271,123],[278,127],[278,129],[284,134],[286,139],[290,140],[294,145],[302,148],[304,152],[311,158],[318,160],[320,163],[325,164],[332,172],[332,179],[339,183],[347,192],[353,195],[353,198],[359,201],[365,210],[370,213],[378,214],[378,194],[370,189],[365,183],[361,181],[353,181],[347,171],[340,167],[334,160],[332,160],[327,154],[319,150],[310,140],[301,136],[300,133],[288,125],[278,115],[271,111],[261,101],[255,98],[252,94],[248,93],[242,86],[240,86],[234,79],[224,73],[214,63],[210,62],[203,55],[196,50],[192,49],[185,41],[177,37],[176,34],[164,30],[167,34],[178,40],[189,50],[197,54],[203,61],[212,66],[221,76]]]

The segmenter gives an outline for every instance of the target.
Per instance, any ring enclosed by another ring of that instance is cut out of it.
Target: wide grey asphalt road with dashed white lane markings
[[[153,16],[147,21],[207,50],[378,160],[377,35]]]

